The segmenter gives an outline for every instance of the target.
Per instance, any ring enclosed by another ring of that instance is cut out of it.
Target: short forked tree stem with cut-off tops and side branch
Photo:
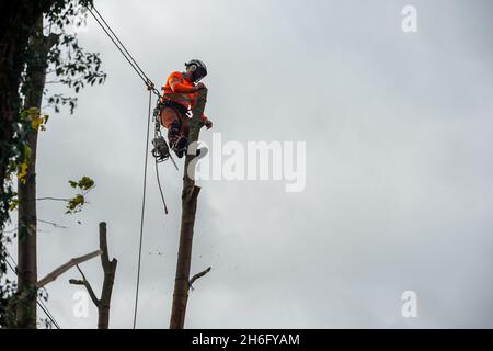
[[[84,285],[91,296],[92,302],[98,307],[98,329],[110,328],[110,305],[112,301],[113,283],[115,281],[116,265],[118,261],[114,258],[110,261],[106,240],[106,223],[100,223],[100,250],[101,250],[101,265],[103,267],[104,280],[101,298],[98,298],[91,284],[85,279],[84,273],[78,267],[82,280],[69,280],[70,284]]]

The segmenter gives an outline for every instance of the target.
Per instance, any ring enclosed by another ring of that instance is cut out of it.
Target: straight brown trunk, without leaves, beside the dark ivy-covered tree
[[[41,110],[43,91],[46,81],[46,57],[55,44],[57,36],[43,35],[43,19],[36,23],[35,33],[30,38],[30,48],[36,57],[27,66],[26,95],[24,109]],[[36,328],[36,282],[37,282],[37,253],[36,253],[36,149],[37,131],[27,134],[27,146],[31,148],[31,159],[27,162],[25,178],[18,181],[19,218],[18,218],[18,293],[26,296],[18,304],[18,327]]]

